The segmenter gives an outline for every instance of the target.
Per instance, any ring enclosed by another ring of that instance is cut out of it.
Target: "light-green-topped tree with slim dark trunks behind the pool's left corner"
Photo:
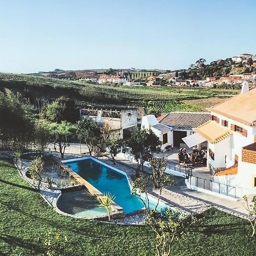
[[[70,146],[70,139],[76,133],[76,125],[67,121],[61,121],[61,123],[51,123],[50,131],[55,138],[54,143],[59,145],[61,158],[64,157],[65,148]]]

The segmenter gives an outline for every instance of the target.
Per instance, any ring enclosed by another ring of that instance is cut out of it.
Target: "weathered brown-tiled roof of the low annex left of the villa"
[[[174,130],[192,130],[209,119],[209,112],[170,112],[160,120],[160,123],[172,126]]]

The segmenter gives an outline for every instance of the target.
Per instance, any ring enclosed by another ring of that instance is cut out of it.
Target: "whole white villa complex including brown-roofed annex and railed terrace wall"
[[[240,94],[208,110],[168,113],[158,119],[146,115],[142,127],[158,135],[162,150],[168,145],[207,150],[207,167],[195,168],[196,176],[192,171],[185,180],[188,188],[233,199],[256,194],[256,88],[249,90],[243,82]],[[204,177],[199,188],[200,170]],[[168,173],[182,176],[175,169]]]

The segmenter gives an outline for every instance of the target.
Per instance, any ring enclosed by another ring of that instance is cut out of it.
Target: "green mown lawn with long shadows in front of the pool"
[[[43,255],[46,230],[68,237],[68,255],[155,255],[154,236],[144,227],[103,224],[56,213],[0,159],[0,255]],[[175,241],[172,255],[255,255],[246,220],[210,209]]]

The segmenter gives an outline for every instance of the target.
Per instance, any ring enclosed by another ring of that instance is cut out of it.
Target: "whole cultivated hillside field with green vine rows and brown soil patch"
[[[115,108],[132,107],[144,113],[162,114],[173,111],[204,111],[209,106],[221,102],[218,95],[233,95],[239,90],[211,88],[170,88],[149,86],[114,86],[86,84],[82,81],[52,79],[0,73],[0,90],[14,89],[19,92],[29,92],[32,97],[57,98],[65,96],[76,102],[86,102],[94,108],[110,106]],[[149,102],[149,103],[148,103]]]

